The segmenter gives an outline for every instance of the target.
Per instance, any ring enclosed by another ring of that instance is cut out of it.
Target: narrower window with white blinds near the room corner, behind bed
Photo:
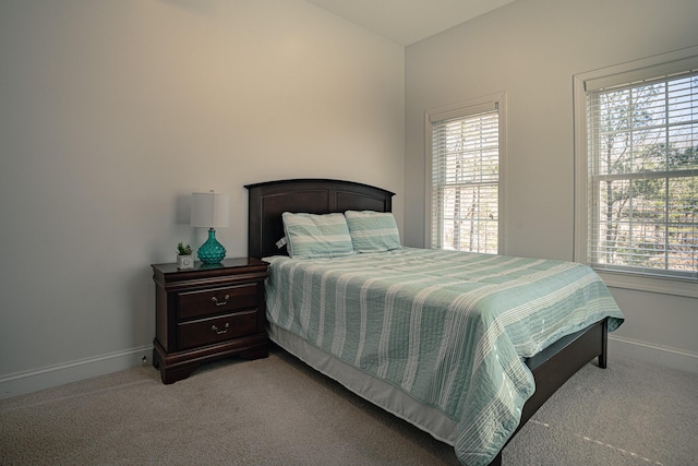
[[[503,110],[498,94],[426,113],[432,248],[503,250]]]

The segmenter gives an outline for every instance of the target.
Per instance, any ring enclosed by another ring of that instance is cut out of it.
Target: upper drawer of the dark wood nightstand
[[[177,295],[179,319],[200,318],[258,307],[258,285],[250,283],[225,288],[184,291]]]

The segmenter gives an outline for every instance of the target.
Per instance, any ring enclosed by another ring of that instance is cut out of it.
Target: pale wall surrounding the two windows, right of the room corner
[[[507,253],[573,259],[573,75],[698,44],[695,0],[517,0],[406,49],[405,242],[424,244],[424,111],[507,95]],[[698,371],[698,300],[612,289],[612,349]]]

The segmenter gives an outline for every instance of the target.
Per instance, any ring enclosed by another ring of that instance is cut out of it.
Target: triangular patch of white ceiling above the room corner
[[[514,0],[308,0],[408,46]]]

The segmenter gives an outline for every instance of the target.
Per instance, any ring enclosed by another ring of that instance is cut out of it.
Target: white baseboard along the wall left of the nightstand
[[[0,377],[0,399],[151,363],[152,357],[148,345]]]

